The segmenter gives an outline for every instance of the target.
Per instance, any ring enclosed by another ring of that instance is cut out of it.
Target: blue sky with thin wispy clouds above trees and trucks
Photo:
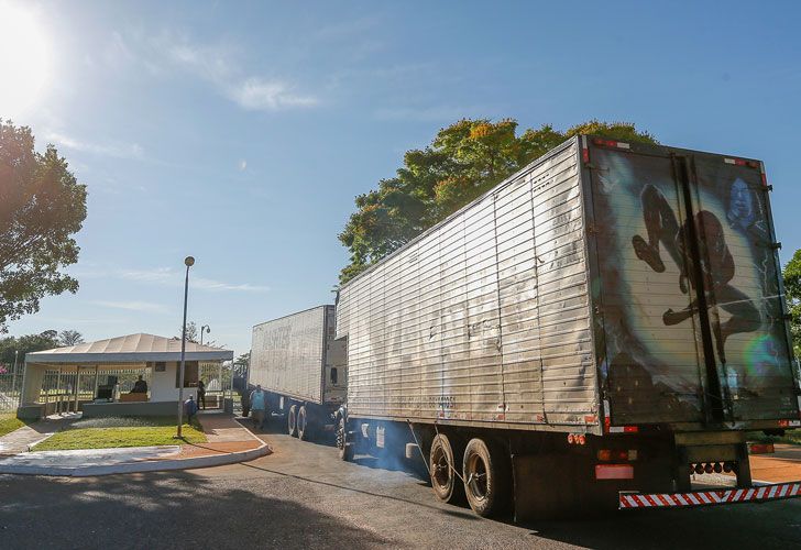
[[[801,248],[795,2],[0,0],[0,118],[88,188],[77,294],[9,326],[175,336],[237,354],[332,302],[354,196],[461,118],[635,122],[760,158]]]

